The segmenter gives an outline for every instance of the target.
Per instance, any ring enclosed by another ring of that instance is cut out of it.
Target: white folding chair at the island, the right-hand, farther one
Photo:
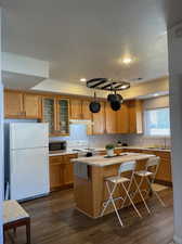
[[[138,183],[135,180],[135,177],[134,177],[134,181],[135,181],[135,184],[138,184],[138,188],[136,188],[136,191],[134,192],[134,194],[132,195],[132,198],[134,198],[139,189],[141,190],[142,183],[144,182],[144,180],[146,180],[146,182],[150,187],[148,191],[146,191],[146,194],[148,194],[150,191],[153,192],[154,195],[156,196],[156,198],[159,201],[159,203],[165,207],[164,201],[160,198],[159,194],[153,189],[153,183],[155,181],[159,164],[160,164],[160,157],[151,157],[147,159],[145,170],[138,170],[134,172],[134,176],[140,177],[141,181],[140,181],[140,183]],[[152,168],[153,168],[153,170],[151,170]],[[142,190],[141,190],[141,192],[142,192]],[[143,201],[148,214],[151,214],[151,210],[150,210],[144,197],[142,197],[142,201]]]

